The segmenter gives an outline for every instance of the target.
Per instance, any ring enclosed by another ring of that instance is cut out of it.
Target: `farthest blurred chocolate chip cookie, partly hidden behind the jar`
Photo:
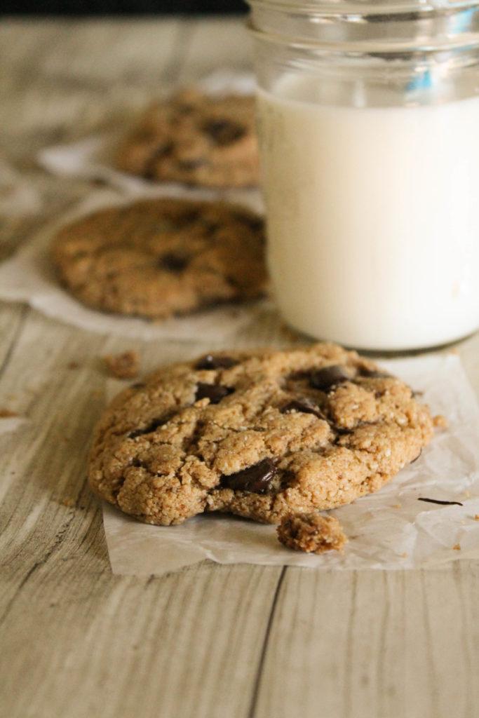
[[[259,183],[254,99],[184,90],[152,105],[121,144],[116,164],[149,180],[203,187]]]

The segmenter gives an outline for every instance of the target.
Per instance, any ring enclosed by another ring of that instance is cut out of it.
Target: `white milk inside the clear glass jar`
[[[269,269],[287,322],[361,349],[473,332],[479,97],[351,108],[281,90],[258,103]]]

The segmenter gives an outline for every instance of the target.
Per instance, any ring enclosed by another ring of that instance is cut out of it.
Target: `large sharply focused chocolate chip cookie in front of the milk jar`
[[[376,491],[432,434],[409,386],[337,345],[218,353],[124,390],[88,479],[147,523],[203,511],[278,523]]]

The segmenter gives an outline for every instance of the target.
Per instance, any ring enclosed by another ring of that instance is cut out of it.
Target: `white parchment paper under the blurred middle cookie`
[[[0,264],[0,299],[9,302],[28,302],[48,317],[68,322],[76,327],[124,337],[154,339],[203,339],[228,337],[242,327],[259,320],[270,312],[272,304],[265,299],[247,304],[228,304],[218,309],[197,312],[186,317],[149,321],[139,317],[121,317],[88,309],[62,289],[49,255],[49,245],[62,225],[112,205],[128,204],[139,198],[189,197],[213,200],[223,197],[229,202],[247,206],[261,213],[261,195],[257,190],[193,190],[177,185],[144,187],[135,195],[126,196],[115,190],[97,190],[87,199],[55,222],[45,226],[11,258]]]

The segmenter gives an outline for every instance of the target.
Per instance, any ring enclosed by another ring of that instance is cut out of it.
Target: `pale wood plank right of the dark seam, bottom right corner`
[[[287,569],[254,718],[474,718],[472,562],[441,571]],[[458,590],[459,583],[462,590]],[[474,592],[473,592],[474,593]]]

